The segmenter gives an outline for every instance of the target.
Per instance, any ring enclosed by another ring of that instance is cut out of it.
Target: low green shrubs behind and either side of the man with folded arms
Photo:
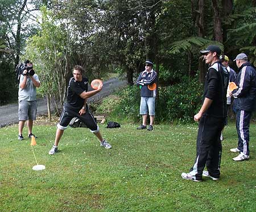
[[[180,84],[158,89],[155,120],[158,123],[193,122],[193,116],[201,105],[201,85],[197,80],[185,80]],[[96,114],[108,115],[112,120],[138,122],[140,90],[138,86],[128,86],[115,95],[105,98],[98,105]]]

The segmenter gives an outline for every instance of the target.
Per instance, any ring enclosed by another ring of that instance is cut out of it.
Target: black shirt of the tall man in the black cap
[[[228,89],[229,73],[220,62],[209,67],[205,76],[204,98],[212,99],[213,102],[205,111],[204,115],[216,118],[227,116],[226,91]]]

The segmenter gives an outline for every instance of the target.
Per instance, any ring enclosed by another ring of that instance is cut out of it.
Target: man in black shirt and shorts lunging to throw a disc
[[[92,97],[102,90],[102,84],[98,86],[96,90],[88,92],[88,78],[82,77],[84,68],[80,65],[76,65],[73,68],[73,77],[69,80],[67,103],[63,107],[63,111],[60,116],[60,122],[57,124],[57,131],[55,136],[55,143],[49,151],[49,155],[53,155],[57,152],[60,138],[63,135],[64,130],[68,127],[72,118],[77,117],[82,123],[93,132],[101,142],[101,146],[107,149],[112,148],[111,145],[101,136],[98,125],[89,111],[87,105],[87,98]]]

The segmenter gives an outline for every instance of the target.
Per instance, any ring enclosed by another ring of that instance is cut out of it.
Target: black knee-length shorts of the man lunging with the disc
[[[79,114],[80,109],[74,109],[69,105],[64,105],[63,111],[60,116],[60,122],[57,127],[60,130],[65,130],[68,127],[69,122],[72,118],[77,117],[81,120],[82,123],[86,124],[86,126],[92,131],[98,131],[98,125],[93,115],[89,111],[88,105],[86,105],[85,114]]]

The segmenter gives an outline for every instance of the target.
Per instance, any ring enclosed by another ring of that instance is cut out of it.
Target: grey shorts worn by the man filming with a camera
[[[36,100],[31,102],[25,100],[19,101],[19,120],[35,120],[37,108]]]

